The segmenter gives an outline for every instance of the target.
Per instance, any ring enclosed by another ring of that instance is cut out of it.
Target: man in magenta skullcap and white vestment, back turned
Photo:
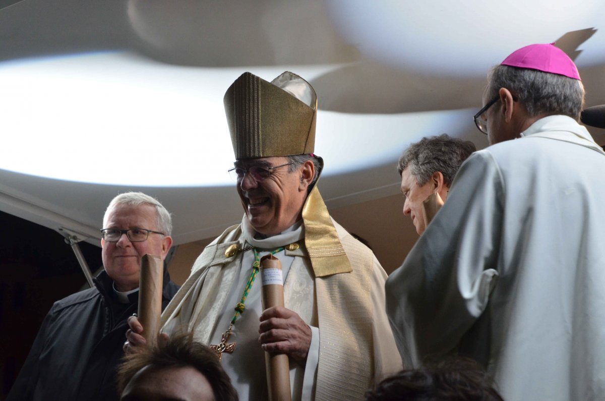
[[[460,353],[502,397],[605,394],[605,153],[578,118],[584,88],[552,44],[491,70],[476,114],[492,144],[387,282],[402,356]]]

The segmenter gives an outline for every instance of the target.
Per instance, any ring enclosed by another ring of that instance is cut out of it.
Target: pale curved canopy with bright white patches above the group
[[[0,210],[90,242],[126,190],[174,213],[176,244],[240,220],[222,99],[244,71],[315,87],[332,208],[398,193],[397,157],[422,136],[485,147],[472,116],[515,48],[557,41],[587,105],[605,103],[601,1],[89,3],[0,9]]]

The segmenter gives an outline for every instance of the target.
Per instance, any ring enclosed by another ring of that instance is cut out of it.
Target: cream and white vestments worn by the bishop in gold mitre
[[[302,241],[304,225],[300,223],[277,236],[262,240],[253,238],[254,231],[249,227],[246,216],[240,226],[227,229],[222,236],[208,246],[207,250],[212,251],[204,250],[204,253],[195,262],[191,276],[174,297],[173,302],[166,308],[166,313],[162,316],[163,323],[165,323],[163,331],[166,333],[177,330],[193,331],[196,340],[208,345],[217,344],[221,340],[221,334],[229,326],[235,304],[240,301],[252,270],[254,256],[250,245],[261,248],[260,256],[262,257],[275,248],[298,242],[301,245],[298,250],[285,250],[275,254],[280,259],[284,273],[285,306],[298,313],[301,319],[312,328],[312,343],[306,366],[298,365],[290,360],[292,399],[326,399],[327,396],[318,395],[325,394],[326,389],[316,388],[318,374],[322,374],[319,373],[321,370],[318,368],[321,360],[326,366],[324,371],[329,370],[327,374],[336,378],[336,380],[328,380],[333,384],[333,388],[330,388],[329,391],[342,394],[341,398],[336,398],[332,394],[329,396],[330,399],[362,399],[365,389],[373,385],[376,380],[401,369],[401,358],[397,354],[393,334],[384,310],[386,274],[371,251],[334,222],[342,245],[347,251],[347,256],[350,259],[353,257],[351,259],[353,270],[364,276],[365,279],[358,282],[358,278],[353,273],[314,278]],[[244,251],[239,252],[235,257],[226,257],[225,250],[233,244],[238,244]],[[368,256],[367,261],[364,262],[365,266],[359,264],[360,262],[355,257],[356,253]],[[356,265],[356,263],[358,264]],[[360,271],[368,273],[359,273]],[[340,281],[336,285],[330,285],[330,282],[335,279]],[[355,305],[358,303],[347,304],[346,296],[343,296],[343,299],[332,299],[330,302],[335,305],[331,308],[341,316],[351,316],[351,319],[362,316],[362,319],[367,319],[363,325],[367,325],[370,330],[369,342],[347,337],[353,332],[348,331],[345,327],[337,328],[329,325],[326,325],[325,328],[322,327],[320,324],[322,317],[318,314],[319,293],[316,280],[322,280],[323,287],[328,286],[337,293],[347,294],[347,291],[351,291],[357,294],[367,294],[370,310],[362,311],[361,315],[355,314]],[[262,312],[260,281],[261,277],[258,276],[247,296],[246,311],[235,322],[234,334],[228,341],[237,343],[235,351],[224,353],[222,359],[223,367],[229,373],[241,400],[267,399],[264,353],[258,343],[259,316]],[[350,306],[352,310],[347,310],[347,306]],[[322,342],[322,338],[330,338],[330,333],[327,331],[335,330],[341,343]],[[364,350],[358,348],[360,340],[361,348],[369,348],[370,360],[364,356]],[[333,349],[344,351],[341,351],[337,358],[333,358],[331,356]],[[359,377],[342,373],[349,369],[360,372],[369,371],[371,377],[363,377],[362,380],[359,380]]]

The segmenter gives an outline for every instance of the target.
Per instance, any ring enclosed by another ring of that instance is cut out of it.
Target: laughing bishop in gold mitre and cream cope
[[[241,400],[267,399],[264,351],[289,356],[293,400],[358,400],[401,369],[384,306],[387,274],[319,194],[317,98],[285,72],[244,73],[224,96],[244,208],[198,257],[162,316],[217,351]],[[285,308],[263,311],[259,260],[273,254]]]

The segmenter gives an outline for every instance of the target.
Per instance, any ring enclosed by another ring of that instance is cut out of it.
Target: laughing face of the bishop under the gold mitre
[[[287,157],[244,159],[236,167],[276,167],[287,164]],[[301,218],[302,205],[307,198],[307,187],[301,180],[301,166],[291,165],[270,170],[261,180],[249,172],[238,179],[237,192],[252,227],[261,234],[274,235],[289,228]]]

